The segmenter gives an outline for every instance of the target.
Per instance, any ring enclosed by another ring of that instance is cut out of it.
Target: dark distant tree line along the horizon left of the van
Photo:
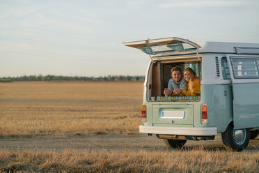
[[[20,77],[0,77],[0,82],[13,81],[139,81],[145,80],[144,76],[108,75],[100,77],[62,76],[62,75],[24,75]]]

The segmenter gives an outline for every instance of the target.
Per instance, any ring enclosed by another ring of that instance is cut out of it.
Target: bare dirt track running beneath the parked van
[[[183,149],[201,149],[207,151],[226,150],[221,141],[221,135],[215,140],[187,141]],[[63,137],[31,137],[0,139],[0,149],[9,151],[50,150],[63,151],[164,151],[167,150],[164,142],[155,135],[75,135]],[[245,151],[253,152],[259,149],[259,137],[250,140]]]

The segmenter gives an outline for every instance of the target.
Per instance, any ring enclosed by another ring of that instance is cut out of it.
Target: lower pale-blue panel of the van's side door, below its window
[[[259,83],[233,84],[234,128],[259,126]]]

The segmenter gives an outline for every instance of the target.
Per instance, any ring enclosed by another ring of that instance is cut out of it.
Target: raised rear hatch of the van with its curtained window
[[[139,40],[123,44],[149,54],[152,61],[157,57],[161,58],[175,54],[198,54],[198,49],[201,48],[200,45],[190,40],[178,37]]]

